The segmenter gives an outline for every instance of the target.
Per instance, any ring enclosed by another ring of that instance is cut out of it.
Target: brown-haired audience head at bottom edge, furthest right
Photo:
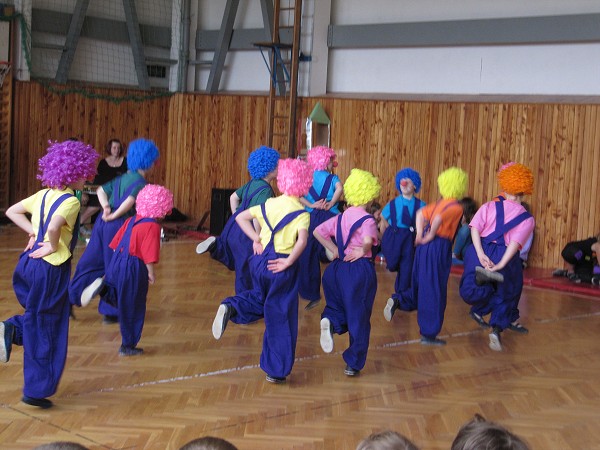
[[[461,427],[451,450],[529,450],[521,438],[479,414]]]

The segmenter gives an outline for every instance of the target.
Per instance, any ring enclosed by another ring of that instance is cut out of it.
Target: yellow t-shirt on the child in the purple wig
[[[31,224],[33,225],[33,232],[36,234],[36,238],[40,227],[40,208],[42,207],[42,198],[46,192],[48,192],[48,195],[46,195],[46,201],[44,203],[44,221],[48,217],[48,213],[50,212],[52,204],[58,200],[61,195],[73,195],[73,190],[69,188],[64,191],[58,189],[42,189],[41,191],[33,194],[31,197],[21,200],[21,204],[25,210],[31,214]],[[58,239],[57,250],[43,258],[44,261],[52,264],[53,266],[60,266],[71,257],[69,244],[71,243],[71,238],[73,237],[73,227],[75,226],[75,221],[77,220],[77,214],[79,214],[80,206],[79,200],[77,200],[77,198],[73,195],[73,197],[70,197],[62,202],[54,212],[55,216],[59,215],[63,217],[67,223],[60,229],[60,238]],[[43,241],[50,241],[48,234],[44,235]]]

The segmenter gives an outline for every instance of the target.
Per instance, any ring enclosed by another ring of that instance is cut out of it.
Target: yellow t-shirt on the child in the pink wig
[[[258,220],[258,223],[260,224],[260,241],[263,247],[266,247],[271,240],[271,229],[267,226],[265,219],[263,218],[260,206],[261,205],[253,206],[248,209],[248,211],[250,211],[252,217]],[[299,209],[304,210],[304,206],[302,206],[302,203],[300,203],[297,197],[281,195],[279,197],[270,198],[265,202],[267,219],[269,219],[269,223],[272,227],[275,227],[288,213]],[[307,212],[300,214],[292,220],[275,235],[273,242],[275,251],[277,253],[289,255],[298,239],[298,230],[308,230],[309,224],[310,215]]]

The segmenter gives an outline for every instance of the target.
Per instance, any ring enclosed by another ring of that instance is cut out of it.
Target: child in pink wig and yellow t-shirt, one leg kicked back
[[[279,161],[277,187],[283,195],[240,213],[236,220],[252,239],[250,258],[253,288],[228,297],[219,306],[212,326],[220,339],[227,322],[247,324],[264,317],[265,334],[260,367],[267,381],[284,383],[294,364],[298,337],[298,257],[306,247],[309,215],[298,197],[312,184],[304,161]],[[258,220],[260,233],[253,226]]]

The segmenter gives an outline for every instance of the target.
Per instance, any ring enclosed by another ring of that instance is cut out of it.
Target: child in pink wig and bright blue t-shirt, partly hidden
[[[339,214],[338,201],[343,188],[338,176],[331,173],[337,166],[332,148],[313,147],[306,154],[306,160],[314,174],[311,189],[300,199],[310,213],[308,243],[300,256],[300,297],[309,301],[305,307],[309,310],[317,306],[321,299],[321,261],[328,261],[325,250],[314,238],[313,232],[327,219]]]

